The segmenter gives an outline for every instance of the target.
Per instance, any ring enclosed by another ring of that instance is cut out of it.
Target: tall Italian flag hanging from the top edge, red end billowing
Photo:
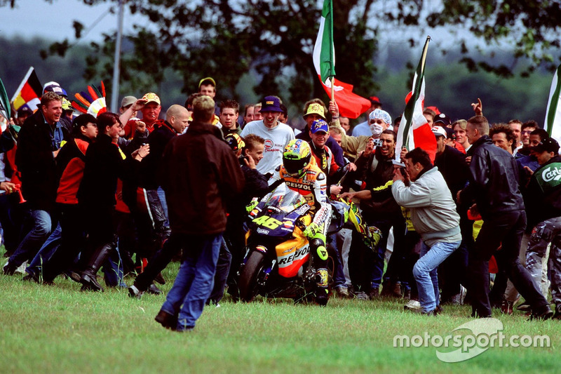
[[[353,93],[353,86],[334,79],[332,98],[331,77],[335,76],[335,47],[333,45],[333,2],[325,0],[321,12],[320,29],[316,45],[313,47],[313,67],[323,89],[331,100],[337,101],[339,114],[344,117],[358,118],[370,108],[370,100]]]

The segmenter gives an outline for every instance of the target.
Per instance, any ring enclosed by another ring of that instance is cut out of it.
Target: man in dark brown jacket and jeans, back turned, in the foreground
[[[184,259],[156,321],[178,331],[192,330],[203,312],[226,229],[226,204],[244,184],[236,156],[211,124],[214,108],[208,96],[196,98],[193,123],[169,142],[162,158],[170,240],[180,242]]]

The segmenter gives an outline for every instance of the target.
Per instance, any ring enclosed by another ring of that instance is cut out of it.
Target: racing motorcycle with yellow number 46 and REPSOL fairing
[[[352,206],[332,201],[328,234],[344,227]],[[284,182],[253,208],[247,251],[239,272],[240,300],[250,302],[257,295],[310,300],[316,288],[316,269],[310,243],[302,234],[312,222],[310,209],[304,196]],[[358,213],[356,217],[360,220]]]

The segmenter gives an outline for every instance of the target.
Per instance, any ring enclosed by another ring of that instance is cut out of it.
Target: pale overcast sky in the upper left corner
[[[0,8],[0,36],[7,39],[13,36],[26,39],[43,36],[51,40],[68,38],[74,41],[74,20],[81,22],[86,29],[91,27],[88,34],[83,36],[84,41],[99,41],[103,32],[117,28],[116,6],[113,2],[87,6],[78,0],[53,0],[52,4],[45,0],[16,0],[15,4],[14,9],[9,6]],[[107,13],[111,6],[115,14]],[[100,17],[102,19],[93,26]],[[123,30],[132,31],[133,20],[140,19],[139,15],[132,17],[125,6]]]

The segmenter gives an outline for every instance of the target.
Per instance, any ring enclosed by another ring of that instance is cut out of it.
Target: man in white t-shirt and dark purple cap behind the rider
[[[273,174],[275,169],[283,163],[283,149],[295,137],[290,126],[278,121],[278,116],[282,112],[278,97],[265,96],[261,104],[260,113],[263,115],[263,119],[245,125],[241,136],[243,138],[245,135],[255,134],[265,140],[264,156],[257,165],[257,171],[266,175]]]

